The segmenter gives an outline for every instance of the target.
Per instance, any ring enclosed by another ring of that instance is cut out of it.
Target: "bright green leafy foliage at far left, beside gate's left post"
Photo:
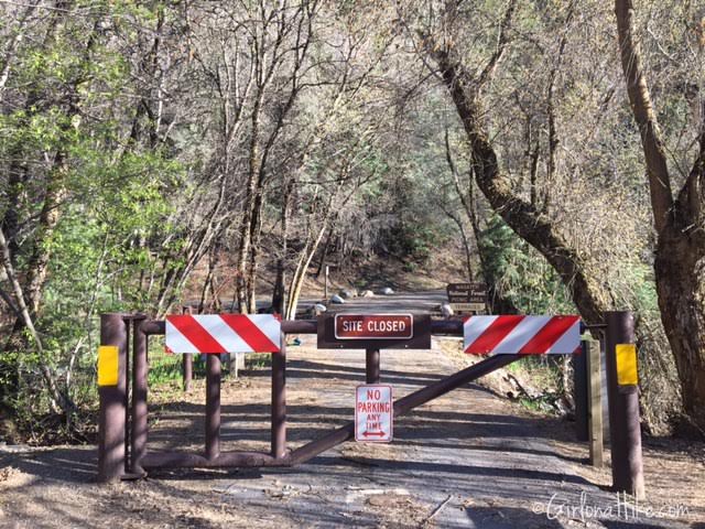
[[[35,317],[44,354],[40,357],[26,337],[24,345],[0,352],[0,363],[9,366],[0,375],[0,385],[19,377],[21,388],[11,406],[28,421],[48,409],[40,365],[57,375],[79,409],[95,403],[97,316],[150,306],[155,292],[144,289],[140,278],[159,271],[160,256],[151,245],[173,234],[171,192],[183,181],[182,165],[167,152],[126,150],[116,155],[122,134],[118,121],[85,122],[62,104],[61,94],[74,83],[79,84],[79,97],[91,94],[84,104],[96,97],[105,104],[127,77],[124,60],[118,54],[95,50],[93,61],[86,62],[64,45],[70,42],[24,55],[19,79],[31,84],[35,102],[0,116],[0,158],[15,161],[17,168],[26,166],[32,175],[6,187],[4,196],[17,202],[4,201],[2,212],[12,208],[21,223],[33,223],[50,181],[61,187],[62,196],[58,224],[51,235],[29,231],[14,255],[20,273],[37,248],[50,256]],[[58,93],[57,102],[47,98],[50,90]],[[34,161],[51,161],[48,153],[55,152],[62,153],[62,165],[43,170]],[[164,248],[176,248],[178,238],[172,240]],[[30,387],[34,389],[26,390]]]

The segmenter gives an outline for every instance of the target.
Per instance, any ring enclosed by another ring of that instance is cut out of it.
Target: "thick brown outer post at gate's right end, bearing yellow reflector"
[[[632,313],[621,311],[607,312],[605,317],[612,487],[617,492],[643,499],[646,492],[639,424],[639,388],[620,386],[617,377],[616,346],[634,343],[634,319]]]

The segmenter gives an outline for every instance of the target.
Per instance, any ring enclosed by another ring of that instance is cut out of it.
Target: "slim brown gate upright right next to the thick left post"
[[[132,320],[132,450],[130,473],[145,475],[140,460],[147,451],[147,376],[148,376],[148,336],[142,330],[145,316]]]

